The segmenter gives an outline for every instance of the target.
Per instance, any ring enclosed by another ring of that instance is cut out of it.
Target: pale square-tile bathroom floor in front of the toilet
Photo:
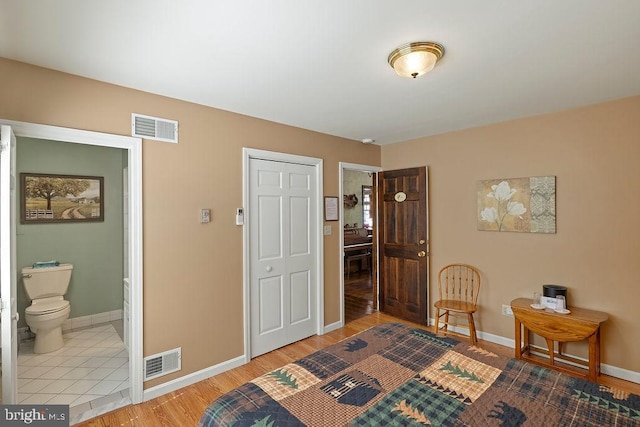
[[[113,325],[63,336],[64,347],[47,354],[20,344],[18,402],[69,405],[72,424],[127,404],[129,356]]]

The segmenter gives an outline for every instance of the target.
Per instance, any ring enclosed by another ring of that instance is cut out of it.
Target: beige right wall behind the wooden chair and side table
[[[570,305],[609,313],[603,363],[640,372],[640,97],[382,147],[386,170],[419,165],[429,167],[432,301],[440,267],[474,264],[478,329],[513,338],[501,305],[565,285]],[[557,234],[477,231],[478,180],[539,175],[557,177]]]

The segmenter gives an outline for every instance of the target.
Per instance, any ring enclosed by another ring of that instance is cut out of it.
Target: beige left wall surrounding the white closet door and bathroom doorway
[[[153,70],[149,70],[153,73]],[[237,357],[242,339],[242,148],[324,159],[324,191],[338,195],[338,163],[379,165],[380,147],[0,58],[0,118],[131,134],[131,113],[180,123],[179,144],[143,142],[144,354],[182,347],[182,371]],[[300,106],[304,108],[304,106]],[[212,209],[212,223],[198,221]],[[325,236],[325,324],[339,313],[339,237]]]

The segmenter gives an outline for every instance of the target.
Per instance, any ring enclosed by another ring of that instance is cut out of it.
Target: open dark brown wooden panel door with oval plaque
[[[426,167],[378,174],[380,310],[428,324]]]

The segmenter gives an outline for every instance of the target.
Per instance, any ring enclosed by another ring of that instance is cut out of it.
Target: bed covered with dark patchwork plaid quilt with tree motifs
[[[204,426],[640,426],[640,396],[385,323],[216,399]]]

